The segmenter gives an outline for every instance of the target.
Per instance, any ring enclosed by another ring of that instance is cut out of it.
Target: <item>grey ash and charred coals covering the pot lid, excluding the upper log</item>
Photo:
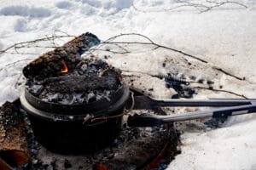
[[[57,77],[34,77],[26,89],[47,102],[62,105],[88,104],[108,99],[121,86],[120,71],[102,59],[80,59],[72,71]]]

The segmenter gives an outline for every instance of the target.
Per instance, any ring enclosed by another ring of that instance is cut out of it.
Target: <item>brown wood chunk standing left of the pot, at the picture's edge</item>
[[[0,107],[0,157],[14,166],[24,165],[30,159],[25,124],[10,102]]]

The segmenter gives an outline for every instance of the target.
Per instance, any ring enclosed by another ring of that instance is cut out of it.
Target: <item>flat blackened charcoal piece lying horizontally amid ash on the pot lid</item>
[[[102,77],[96,75],[79,77],[50,77],[44,82],[44,89],[49,93],[86,92],[88,90],[116,90],[120,85],[117,71],[105,71]]]

